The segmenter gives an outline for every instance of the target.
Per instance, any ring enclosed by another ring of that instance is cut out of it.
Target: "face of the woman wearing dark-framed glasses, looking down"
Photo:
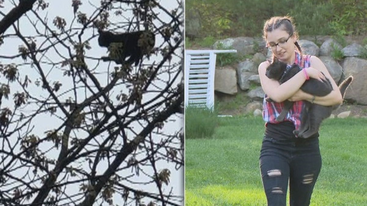
[[[273,54],[281,61],[292,64],[294,61],[295,39],[285,30],[280,28],[268,32],[267,46]]]

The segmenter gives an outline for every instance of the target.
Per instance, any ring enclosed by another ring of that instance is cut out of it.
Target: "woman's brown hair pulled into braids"
[[[297,40],[298,40],[298,32],[295,29],[293,18],[291,16],[273,16],[272,18],[268,19],[264,23],[264,30],[263,30],[263,38],[266,40],[268,38],[268,32],[271,32],[274,29],[281,28],[284,31],[286,31],[288,34],[294,35],[296,42],[294,45],[296,45],[299,53],[302,56],[302,50],[299,46]]]

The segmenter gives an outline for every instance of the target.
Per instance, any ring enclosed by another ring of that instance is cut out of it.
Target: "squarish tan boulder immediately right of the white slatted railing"
[[[237,93],[236,70],[230,67],[215,70],[214,90],[230,95]]]

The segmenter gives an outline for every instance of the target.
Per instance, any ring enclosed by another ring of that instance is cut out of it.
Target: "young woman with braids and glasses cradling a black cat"
[[[292,131],[300,126],[304,101],[330,106],[341,103],[342,96],[321,60],[316,56],[302,55],[292,18],[270,18],[265,22],[263,37],[273,58],[278,58],[289,66],[296,63],[303,68],[283,84],[265,76],[269,62],[262,62],[258,68],[265,98],[270,97],[275,101],[266,102],[264,98],[265,137],[260,153],[261,177],[268,206],[286,205],[288,181],[290,206],[308,206],[321,169],[319,134],[308,139],[298,139]],[[299,89],[309,77],[321,81],[324,78],[321,71],[333,85],[330,94],[315,97]],[[294,103],[287,117],[282,122],[277,122],[275,119],[283,108],[284,100]]]

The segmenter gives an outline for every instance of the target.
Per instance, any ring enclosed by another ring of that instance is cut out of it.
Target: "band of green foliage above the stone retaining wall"
[[[266,19],[294,17],[300,35],[364,35],[367,1],[360,0],[186,0],[196,8],[202,36],[261,36]],[[190,19],[186,19],[190,21]]]

